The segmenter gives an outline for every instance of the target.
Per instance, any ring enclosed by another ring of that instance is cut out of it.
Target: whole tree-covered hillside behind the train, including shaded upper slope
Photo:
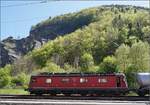
[[[5,82],[0,87],[25,85],[28,76],[38,72],[123,72],[132,86],[131,73],[150,70],[149,11],[101,6],[32,26],[31,36],[58,37],[1,68]]]

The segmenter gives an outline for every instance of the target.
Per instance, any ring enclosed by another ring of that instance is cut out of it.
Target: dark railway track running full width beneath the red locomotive
[[[0,95],[1,99],[57,99],[57,100],[122,100],[122,101],[150,101],[150,96],[35,96],[35,95]]]

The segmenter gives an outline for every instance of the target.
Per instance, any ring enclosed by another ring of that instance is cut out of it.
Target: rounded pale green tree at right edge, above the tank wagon
[[[149,44],[139,41],[134,43],[130,49],[131,65],[137,68],[137,71],[148,71],[150,68]]]

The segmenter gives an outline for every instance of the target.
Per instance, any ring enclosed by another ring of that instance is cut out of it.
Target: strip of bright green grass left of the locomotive
[[[25,91],[24,89],[0,89],[0,94],[25,95],[29,93]]]

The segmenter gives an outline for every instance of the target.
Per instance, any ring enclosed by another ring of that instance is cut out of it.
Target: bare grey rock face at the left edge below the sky
[[[40,42],[30,36],[20,40],[8,37],[0,42],[0,67],[13,63],[34,48],[40,48],[44,43],[45,41]]]

